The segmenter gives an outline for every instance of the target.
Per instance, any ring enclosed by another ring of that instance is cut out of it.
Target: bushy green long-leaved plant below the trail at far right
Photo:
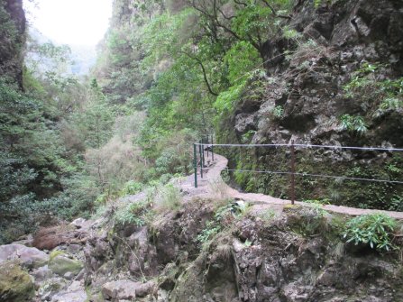
[[[369,244],[372,249],[391,251],[395,249],[393,233],[397,226],[396,220],[389,215],[361,215],[346,224],[343,238],[347,243]]]

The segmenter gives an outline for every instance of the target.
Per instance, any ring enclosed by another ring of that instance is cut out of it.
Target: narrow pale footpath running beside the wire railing
[[[251,203],[255,211],[264,208],[272,208],[277,211],[282,211],[283,207],[291,204],[290,200],[270,197],[264,194],[242,193],[234,188],[230,188],[221,178],[221,172],[227,167],[228,160],[219,154],[215,154],[214,162],[211,158],[206,158],[207,168],[203,169],[203,178],[200,172],[197,172],[197,188],[195,188],[195,175],[192,174],[187,178],[179,180],[178,187],[184,192],[185,200],[193,197],[216,198],[230,197],[240,199]],[[311,206],[309,203],[296,201],[297,205]],[[325,205],[323,208],[326,211],[346,214],[346,215],[365,215],[374,213],[384,213],[397,219],[403,219],[403,212],[369,210],[348,206]]]

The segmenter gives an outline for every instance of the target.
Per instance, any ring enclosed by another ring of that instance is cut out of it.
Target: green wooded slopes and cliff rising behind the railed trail
[[[206,133],[225,143],[401,147],[401,8],[115,0],[96,67],[78,80],[63,46],[30,41],[23,65],[21,1],[2,1],[0,241],[190,173],[190,144]],[[220,152],[236,169],[288,169],[284,150]],[[398,153],[297,156],[301,173],[403,174]],[[246,191],[289,197],[288,178],[230,177]],[[402,208],[402,186],[336,180],[298,178],[298,199]]]

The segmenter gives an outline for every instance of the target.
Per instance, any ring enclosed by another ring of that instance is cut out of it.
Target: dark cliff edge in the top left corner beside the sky
[[[23,0],[2,0],[0,3],[0,74],[23,87],[23,46],[25,14]]]

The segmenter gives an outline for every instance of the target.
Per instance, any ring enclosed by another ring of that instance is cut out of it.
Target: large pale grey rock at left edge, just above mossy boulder
[[[39,268],[49,261],[49,255],[22,244],[13,243],[0,246],[0,263],[15,260],[21,261],[25,267]]]

